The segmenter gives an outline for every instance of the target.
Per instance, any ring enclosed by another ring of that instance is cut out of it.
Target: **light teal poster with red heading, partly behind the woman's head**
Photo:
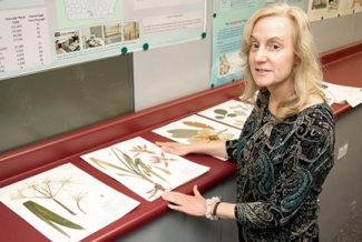
[[[258,9],[287,2],[304,9],[305,0],[215,0],[211,87],[243,78],[241,39],[248,18]]]

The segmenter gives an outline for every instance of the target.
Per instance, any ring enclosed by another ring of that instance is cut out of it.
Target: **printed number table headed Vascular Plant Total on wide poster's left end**
[[[45,8],[1,11],[0,77],[51,63]]]

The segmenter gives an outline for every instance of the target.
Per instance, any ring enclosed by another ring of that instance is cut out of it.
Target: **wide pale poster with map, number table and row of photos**
[[[205,38],[206,0],[0,1],[0,80]]]

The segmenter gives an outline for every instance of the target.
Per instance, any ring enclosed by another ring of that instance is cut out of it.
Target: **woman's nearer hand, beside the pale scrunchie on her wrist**
[[[162,198],[169,202],[168,208],[194,216],[205,216],[206,200],[199,193],[197,185],[194,185],[194,195],[186,195],[179,192],[164,192]]]

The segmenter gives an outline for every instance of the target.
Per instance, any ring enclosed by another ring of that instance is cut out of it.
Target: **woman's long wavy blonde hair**
[[[248,19],[244,29],[241,54],[244,59],[245,89],[242,94],[242,100],[247,101],[253,99],[255,92],[260,90],[260,87],[255,84],[251,72],[248,61],[248,54],[251,51],[250,40],[255,23],[260,19],[271,16],[286,16],[294,23],[294,54],[297,62],[292,72],[294,93],[292,97],[284,99],[277,107],[275,121],[281,122],[287,117],[300,112],[301,108],[306,104],[307,98],[311,94],[324,97],[320,89],[323,74],[306,13],[302,9],[291,7],[284,2],[271,4],[256,11]],[[255,103],[254,105],[256,107]]]

